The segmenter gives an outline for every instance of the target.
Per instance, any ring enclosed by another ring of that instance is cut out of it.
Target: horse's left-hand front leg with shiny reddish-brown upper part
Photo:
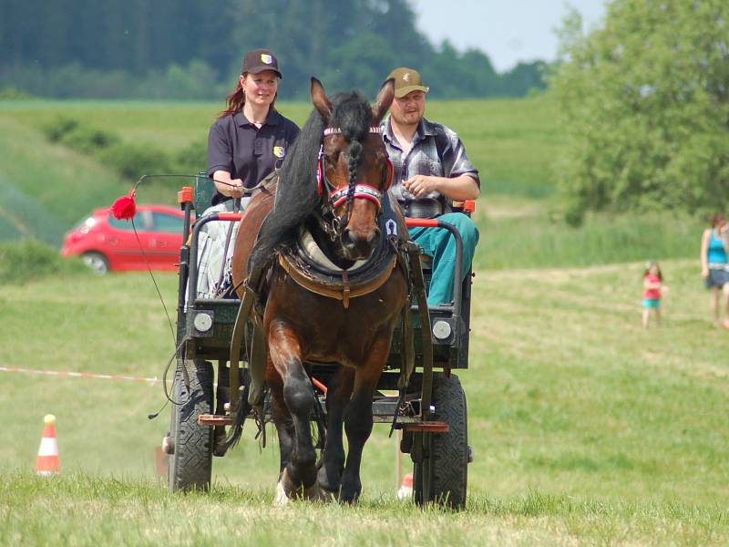
[[[282,377],[283,402],[289,410],[295,431],[293,450],[282,470],[279,485],[289,498],[296,497],[301,490],[305,497],[318,498],[316,451],[310,427],[316,399],[312,383],[303,368],[301,342],[290,325],[274,320],[269,326],[268,348],[272,365]],[[285,425],[282,426],[284,430],[287,429]]]

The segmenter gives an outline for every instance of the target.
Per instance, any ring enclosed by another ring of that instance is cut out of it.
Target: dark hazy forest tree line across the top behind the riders
[[[520,97],[544,63],[498,74],[488,55],[434,45],[407,0],[0,0],[0,90],[49,97],[220,98],[249,49],[270,47],[282,98],[309,77],[374,93],[414,67],[436,98]]]

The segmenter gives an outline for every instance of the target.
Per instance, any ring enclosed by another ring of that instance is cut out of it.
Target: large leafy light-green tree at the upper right
[[[729,202],[729,3],[613,0],[572,13],[556,70],[568,220],[586,209],[722,210]]]

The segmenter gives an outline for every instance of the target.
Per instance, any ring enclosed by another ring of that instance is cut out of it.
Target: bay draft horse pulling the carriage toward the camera
[[[330,100],[316,78],[311,97],[314,109],[287,150],[275,206],[272,192],[254,194],[241,219],[233,255],[236,286],[256,269],[264,272],[257,289],[258,314],[253,316],[265,340],[265,379],[281,449],[277,503],[292,498],[358,499],[362,452],[373,427],[375,387],[408,301],[407,274],[397,265],[390,267],[374,291],[351,299],[304,288],[282,266],[282,249],[300,244],[296,234],[303,229],[323,255],[344,270],[344,284],[346,270],[371,259],[375,249],[383,248],[383,238],[389,240],[385,247],[391,256],[396,253],[396,237],[382,233],[380,222],[392,164],[378,128],[394,97],[393,81],[385,82],[372,107],[356,92],[336,94]],[[395,211],[396,232],[406,237],[399,209],[390,211]],[[241,289],[239,295],[242,298]],[[326,440],[319,467],[311,432],[313,408],[319,403],[307,362],[340,365],[328,386]],[[343,424],[349,445],[346,456]]]

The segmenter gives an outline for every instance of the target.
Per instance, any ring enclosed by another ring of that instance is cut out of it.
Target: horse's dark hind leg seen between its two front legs
[[[319,485],[329,495],[339,493],[344,471],[344,439],[342,425],[344,408],[352,396],[354,368],[341,366],[326,396],[326,444],[324,445],[322,467],[319,470]]]

